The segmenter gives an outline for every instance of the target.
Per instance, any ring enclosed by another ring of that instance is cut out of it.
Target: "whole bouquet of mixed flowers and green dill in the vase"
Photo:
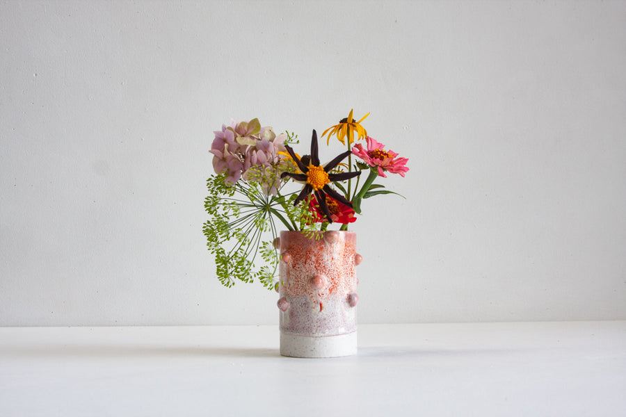
[[[323,131],[327,145],[335,137],[346,147],[327,163],[319,160],[315,130],[301,156],[294,150],[299,144],[294,133],[277,135],[257,119],[231,120],[214,132],[215,174],[207,180],[209,220],[203,231],[222,284],[257,280],[278,288],[279,227],[310,238],[320,238],[332,224],[346,231],[358,220],[364,199],[396,194],[376,180],[388,172],[404,177],[408,159],[367,135],[362,122],[368,115],[357,121],[350,111]]]

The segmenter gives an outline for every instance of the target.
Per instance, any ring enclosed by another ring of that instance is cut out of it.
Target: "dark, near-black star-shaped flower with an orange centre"
[[[346,197],[337,193],[337,191],[330,188],[330,183],[334,181],[345,181],[346,179],[351,179],[357,177],[361,172],[331,172],[339,163],[346,158],[346,156],[350,155],[350,151],[346,151],[343,154],[339,154],[332,161],[327,163],[326,165],[321,166],[319,163],[318,156],[318,146],[317,146],[317,132],[313,130],[313,135],[311,138],[311,155],[303,156],[302,158],[298,158],[294,149],[291,149],[288,145],[285,145],[287,152],[294,160],[296,165],[298,165],[298,170],[300,172],[283,172],[280,174],[281,178],[291,177],[298,182],[304,183],[304,187],[298,197],[294,201],[294,204],[298,204],[305,197],[313,193],[315,198],[319,202],[319,206],[321,211],[326,215],[326,219],[329,223],[332,223],[332,214],[328,209],[328,205],[326,204],[326,195],[330,195],[330,197],[336,199],[338,202],[342,202],[346,204],[346,206],[352,207],[352,203],[348,202]]]

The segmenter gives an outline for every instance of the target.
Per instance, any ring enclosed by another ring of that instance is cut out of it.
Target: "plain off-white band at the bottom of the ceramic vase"
[[[294,358],[333,358],[357,352],[357,332],[338,336],[280,334],[280,354]]]

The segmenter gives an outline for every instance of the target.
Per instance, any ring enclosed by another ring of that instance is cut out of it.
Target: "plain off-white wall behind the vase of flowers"
[[[212,131],[371,112],[360,322],[626,318],[626,2],[0,4],[0,325],[273,324],[205,249]],[[338,148],[337,148],[338,149]],[[335,149],[324,149],[328,156]]]

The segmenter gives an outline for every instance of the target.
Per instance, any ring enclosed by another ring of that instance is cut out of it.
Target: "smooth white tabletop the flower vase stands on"
[[[359,353],[278,327],[0,328],[0,416],[626,416],[626,321],[360,325]]]

